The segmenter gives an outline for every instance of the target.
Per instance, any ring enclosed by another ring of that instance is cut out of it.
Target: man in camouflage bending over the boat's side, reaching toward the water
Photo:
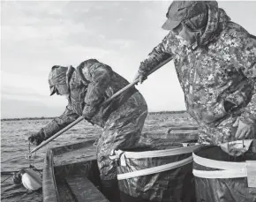
[[[53,119],[41,131],[33,133],[29,141],[39,145],[83,116],[90,123],[103,128],[97,144],[102,181],[116,179],[116,165],[109,159],[109,154],[115,149],[131,148],[139,142],[147,117],[147,103],[138,90],[132,87],[106,105],[99,105],[128,84],[108,65],[95,59],[84,61],[77,69],[72,66],[53,66],[49,73],[50,95],[56,93],[66,96],[68,105],[63,115]]]

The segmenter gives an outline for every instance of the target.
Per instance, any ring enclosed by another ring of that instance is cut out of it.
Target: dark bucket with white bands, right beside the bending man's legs
[[[173,144],[161,150],[142,146],[115,151],[122,202],[195,201],[192,151],[198,147]]]

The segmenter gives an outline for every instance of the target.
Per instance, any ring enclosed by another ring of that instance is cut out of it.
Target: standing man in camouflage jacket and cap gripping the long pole
[[[255,36],[230,21],[215,1],[174,1],[167,18],[162,28],[169,34],[141,62],[136,79],[142,82],[173,57],[200,143],[255,138]]]

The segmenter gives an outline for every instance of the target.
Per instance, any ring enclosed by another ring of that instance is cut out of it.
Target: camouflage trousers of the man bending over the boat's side
[[[109,153],[137,146],[146,117],[147,104],[139,92],[109,116],[97,145],[102,180],[117,178],[117,166],[115,161],[109,159]]]

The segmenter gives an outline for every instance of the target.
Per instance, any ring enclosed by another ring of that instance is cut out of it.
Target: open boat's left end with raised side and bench
[[[192,136],[189,140],[195,138]],[[92,139],[47,150],[42,174],[43,201],[109,201],[101,192],[94,141]]]

